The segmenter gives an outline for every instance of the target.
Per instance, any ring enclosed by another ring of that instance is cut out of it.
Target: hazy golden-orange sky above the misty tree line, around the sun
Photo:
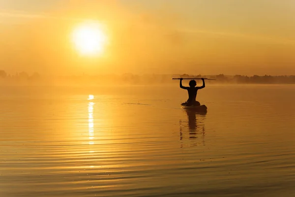
[[[0,69],[52,74],[295,75],[294,0],[0,0]],[[104,52],[71,34],[97,21]]]

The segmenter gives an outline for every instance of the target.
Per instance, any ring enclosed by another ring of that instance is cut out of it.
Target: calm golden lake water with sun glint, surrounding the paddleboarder
[[[295,86],[0,87],[0,197],[295,196]]]

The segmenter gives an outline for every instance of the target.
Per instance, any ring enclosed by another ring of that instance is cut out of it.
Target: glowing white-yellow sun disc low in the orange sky
[[[99,23],[83,23],[73,32],[73,43],[82,55],[101,54],[107,37]]]

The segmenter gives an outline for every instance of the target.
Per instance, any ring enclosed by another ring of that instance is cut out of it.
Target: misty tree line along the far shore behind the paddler
[[[207,83],[237,83],[237,84],[295,84],[295,75],[189,75],[189,74],[132,74],[125,73],[121,75],[105,74],[105,75],[70,75],[70,76],[55,76],[52,78],[46,78],[39,73],[34,72],[29,75],[27,72],[16,73],[15,75],[7,74],[4,70],[0,70],[0,82],[1,85],[5,84],[18,84],[19,83],[39,83],[41,81],[55,81],[57,84],[96,84],[103,82],[123,82],[125,84],[163,84],[163,83],[175,83],[172,78],[212,78],[214,81],[207,81]]]

